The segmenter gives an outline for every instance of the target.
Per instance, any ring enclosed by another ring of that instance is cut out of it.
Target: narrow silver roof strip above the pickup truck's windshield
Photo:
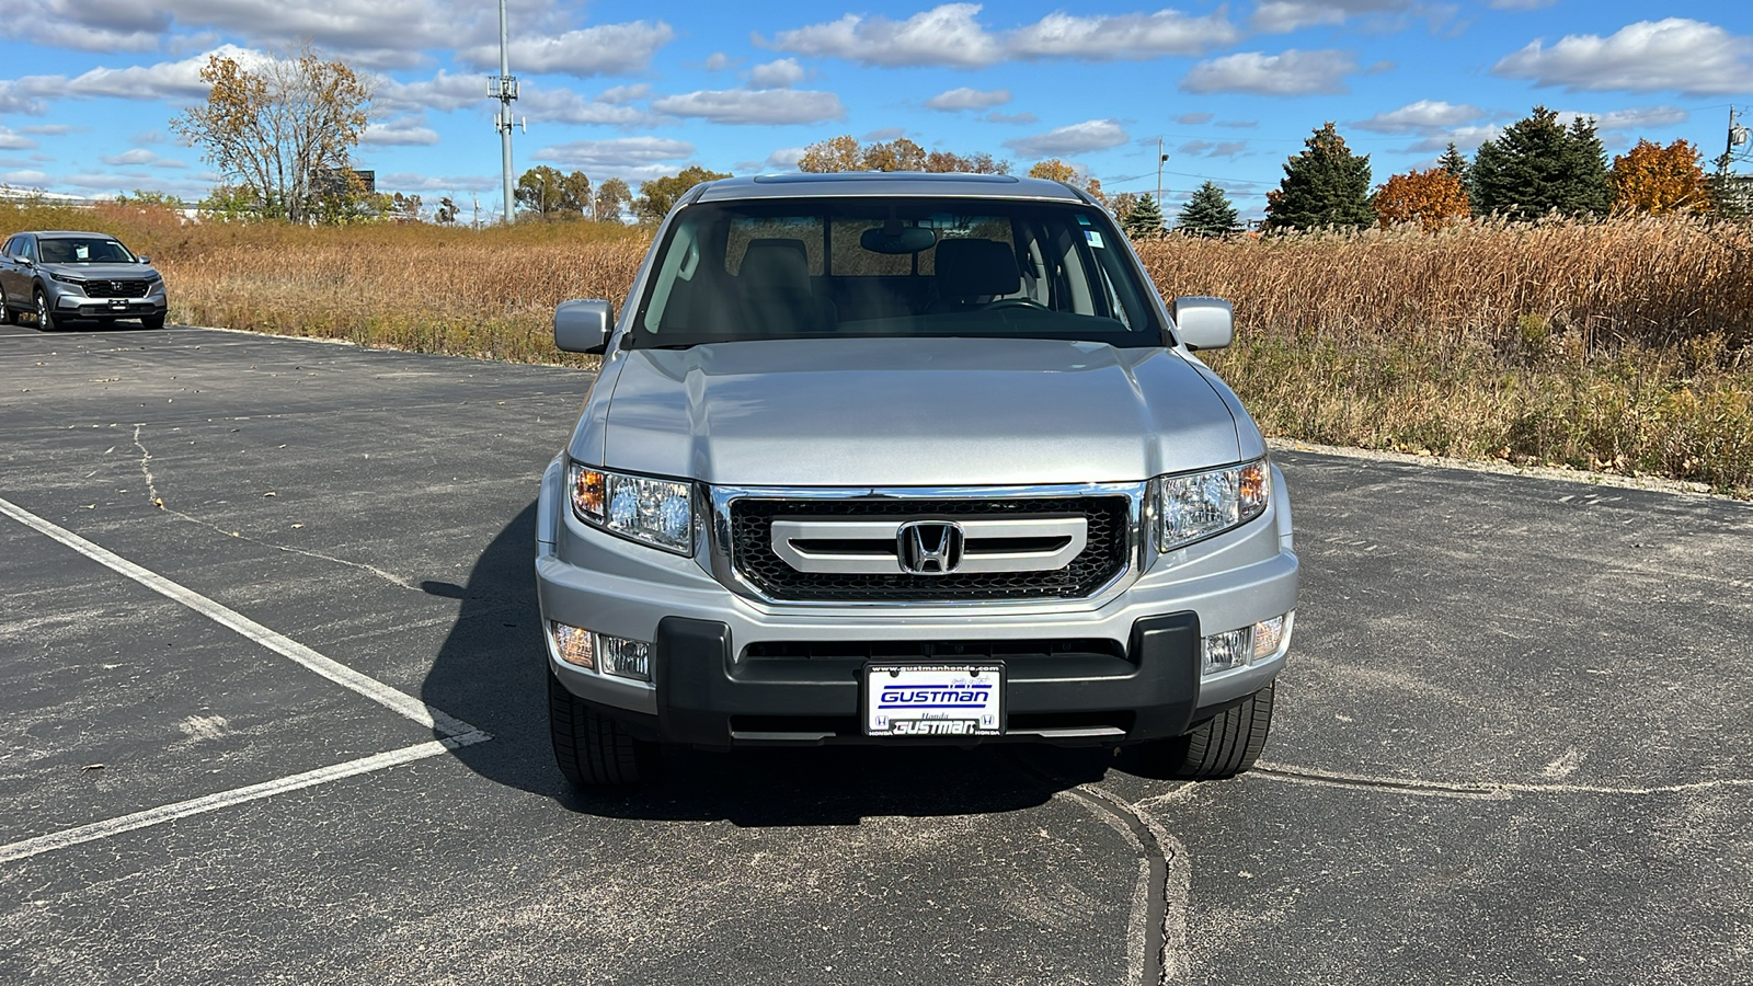
[[[1059,181],[1017,175],[836,172],[727,177],[701,186],[696,202],[747,198],[906,196],[906,198],[1038,198],[1087,202]]]

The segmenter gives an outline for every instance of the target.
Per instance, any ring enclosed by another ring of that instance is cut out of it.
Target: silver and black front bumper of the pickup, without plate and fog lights
[[[577,523],[556,463],[538,505],[543,630],[557,621],[652,642],[654,681],[561,661],[543,632],[549,667],[568,691],[647,739],[894,744],[862,735],[861,672],[869,658],[857,656],[861,647],[941,663],[961,660],[957,642],[966,642],[969,653],[1004,654],[1006,732],[997,739],[1117,744],[1173,737],[1267,686],[1283,668],[1280,653],[1199,674],[1203,633],[1295,609],[1297,556],[1281,489],[1280,479],[1259,521],[1157,560],[1094,600],[822,607],[752,600],[694,558]]]

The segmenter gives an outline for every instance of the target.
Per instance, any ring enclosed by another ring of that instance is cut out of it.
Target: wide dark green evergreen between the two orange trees
[[[1467,191],[1481,214],[1511,219],[1592,218],[1613,209],[1608,153],[1593,121],[1578,119],[1567,130],[1543,105],[1480,146]]]

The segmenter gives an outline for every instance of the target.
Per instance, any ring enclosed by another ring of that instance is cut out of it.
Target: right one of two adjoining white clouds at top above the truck
[[[1004,51],[1015,58],[1122,61],[1204,54],[1239,39],[1241,32],[1225,19],[1224,11],[1204,18],[1190,18],[1180,11],[1096,18],[1054,12],[1011,32],[1004,39]]]

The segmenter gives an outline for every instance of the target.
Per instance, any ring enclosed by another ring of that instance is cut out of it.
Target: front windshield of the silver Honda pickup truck
[[[684,209],[629,346],[973,335],[1162,346],[1148,286],[1087,205],[787,198]]]

